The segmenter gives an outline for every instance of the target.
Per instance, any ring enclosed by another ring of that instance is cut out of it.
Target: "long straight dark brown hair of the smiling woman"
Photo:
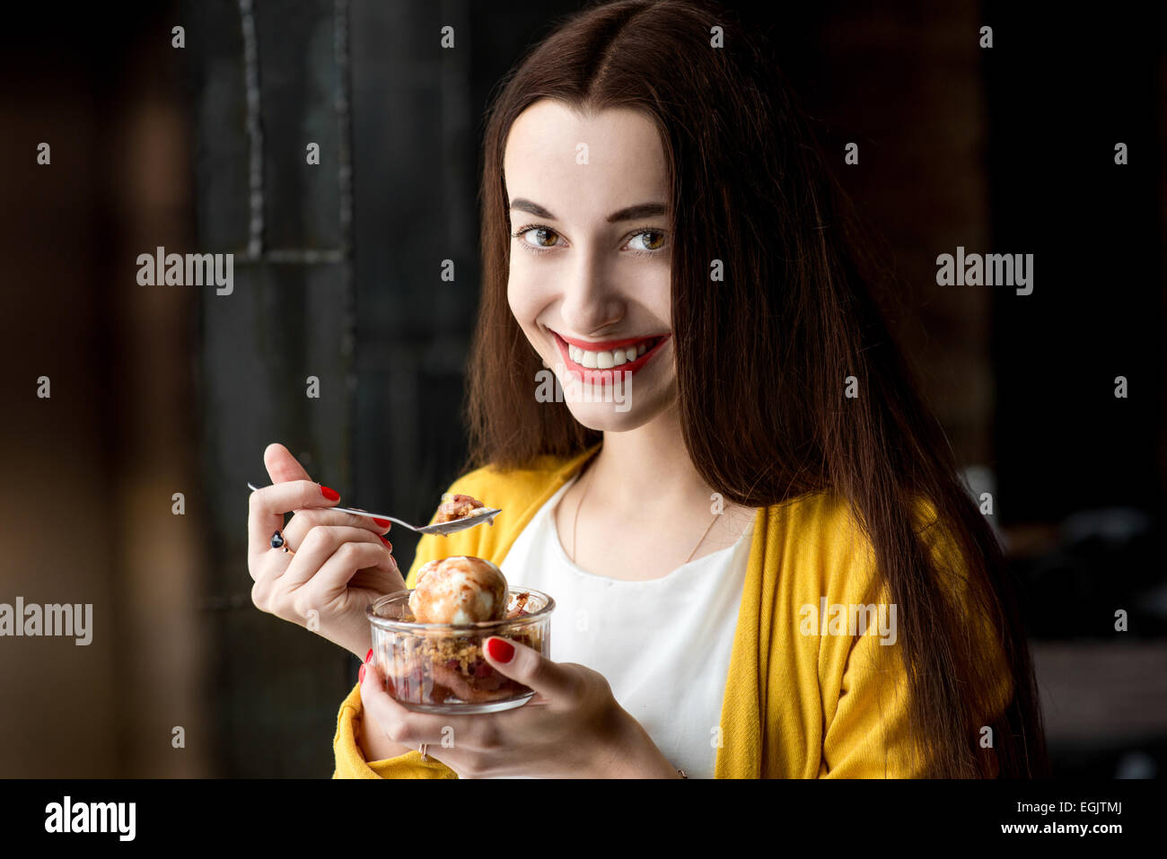
[[[724,48],[711,47],[714,26]],[[543,98],[580,111],[638,110],[658,128],[669,168],[680,422],[697,472],[747,507],[817,490],[850,501],[902,610],[928,774],[1048,775],[1036,683],[1000,547],[869,289],[879,278],[859,219],[767,50],[712,2],[617,0],[566,19],[502,83],[484,140],[467,468],[522,467],[602,438],[565,404],[533,396],[541,361],[506,301],[503,152],[515,119]],[[714,259],[724,281],[711,282]],[[844,398],[848,376],[858,398]],[[922,543],[908,501],[918,496],[955,540],[963,573]],[[946,595],[951,577],[966,579],[964,605]],[[1004,712],[990,712],[1000,676],[967,635],[970,609],[995,630],[1012,672]],[[978,742],[983,725],[993,728],[992,749]]]

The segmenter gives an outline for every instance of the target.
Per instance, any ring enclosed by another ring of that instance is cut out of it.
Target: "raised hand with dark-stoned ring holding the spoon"
[[[390,523],[329,510],[338,497],[313,483],[282,445],[268,445],[264,463],[272,486],[251,494],[247,518],[251,601],[364,658],[372,638],[365,609],[382,594],[405,589],[393,546],[380,537]],[[284,515],[293,510],[285,525]],[[275,531],[291,551],[272,549]]]

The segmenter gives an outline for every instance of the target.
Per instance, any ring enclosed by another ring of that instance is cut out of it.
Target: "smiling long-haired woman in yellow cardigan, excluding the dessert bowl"
[[[404,584],[488,558],[555,598],[553,658],[491,640],[537,696],[452,718],[406,711],[366,657],[336,777],[1044,774],[999,547],[774,68],[721,9],[621,0],[505,82],[449,488],[504,512],[424,537]],[[401,587],[387,528],[265,459],[256,603],[365,656],[364,606]],[[273,550],[289,510],[299,551]],[[843,620],[865,608],[879,635]]]

